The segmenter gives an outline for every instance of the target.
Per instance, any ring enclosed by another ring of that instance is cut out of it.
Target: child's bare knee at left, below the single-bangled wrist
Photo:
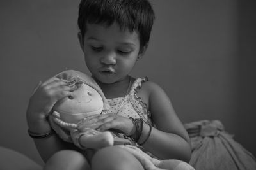
[[[45,164],[44,170],[90,170],[90,165],[84,155],[75,150],[61,150],[54,153]]]

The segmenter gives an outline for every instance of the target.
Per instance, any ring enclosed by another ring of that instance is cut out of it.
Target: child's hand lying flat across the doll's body
[[[97,130],[102,132],[108,129],[115,129],[118,132],[130,136],[134,134],[135,131],[132,120],[112,113],[93,116],[89,118],[88,122],[92,122],[93,126],[97,127]]]

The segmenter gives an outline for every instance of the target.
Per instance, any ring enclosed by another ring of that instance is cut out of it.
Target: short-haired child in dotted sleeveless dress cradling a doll
[[[147,0],[81,1],[79,42],[86,66],[111,106],[108,114],[93,120],[99,131],[113,129],[129,136],[154,157],[189,162],[189,136],[168,96],[147,78],[129,76],[147,50],[153,22],[154,11]],[[120,147],[82,152],[52,133],[47,120],[52,106],[74,90],[76,86],[54,77],[39,83],[29,101],[29,134],[46,162],[45,169],[143,169]],[[130,117],[143,120],[140,133]],[[78,141],[83,146],[83,136]]]

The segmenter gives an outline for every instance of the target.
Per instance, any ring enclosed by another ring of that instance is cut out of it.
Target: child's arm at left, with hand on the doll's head
[[[29,99],[26,115],[29,131],[33,132],[33,134],[45,134],[52,131],[47,120],[52,106],[54,106],[56,101],[70,95],[70,91],[75,89],[76,86],[68,87],[67,83],[59,78],[50,78],[44,83],[40,83]],[[72,145],[61,141],[56,134],[34,139],[34,141],[44,161],[58,150],[72,147]]]

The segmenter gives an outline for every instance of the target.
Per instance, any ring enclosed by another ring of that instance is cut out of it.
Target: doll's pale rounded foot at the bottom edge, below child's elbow
[[[158,167],[168,170],[195,170],[188,163],[177,159],[161,160]]]

